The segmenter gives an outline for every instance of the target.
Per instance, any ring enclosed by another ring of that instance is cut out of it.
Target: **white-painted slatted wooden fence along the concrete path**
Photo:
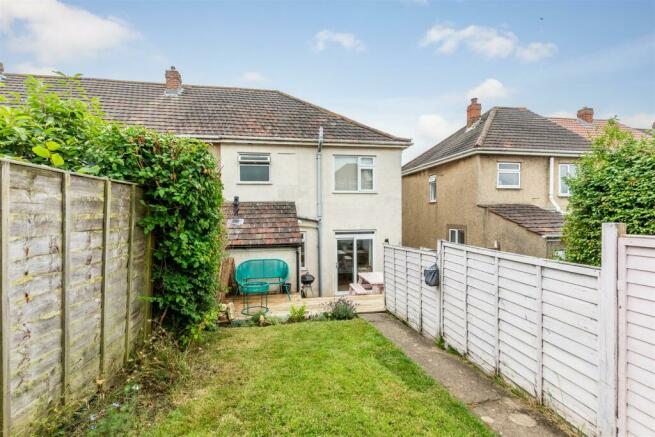
[[[386,246],[386,307],[585,434],[655,435],[655,238],[621,229],[604,228],[602,275],[447,242]],[[437,259],[441,285],[427,287],[422,271]]]

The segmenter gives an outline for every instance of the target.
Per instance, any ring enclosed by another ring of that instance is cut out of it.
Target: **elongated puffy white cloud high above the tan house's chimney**
[[[557,46],[553,43],[532,42],[524,46],[509,30],[477,25],[458,29],[449,24],[437,24],[428,29],[420,45],[436,46],[437,53],[441,54],[451,54],[460,46],[465,46],[471,52],[487,58],[514,55],[525,62],[538,61],[557,53]]]

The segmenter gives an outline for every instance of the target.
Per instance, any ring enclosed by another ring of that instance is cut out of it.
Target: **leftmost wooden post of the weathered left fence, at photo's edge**
[[[11,381],[9,380],[9,172],[11,167],[2,162],[0,170],[0,322],[2,327],[2,435],[11,430]]]

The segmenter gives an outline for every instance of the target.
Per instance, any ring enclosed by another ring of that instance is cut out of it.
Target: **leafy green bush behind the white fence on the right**
[[[601,225],[655,234],[655,136],[635,139],[610,121],[578,162],[564,226],[566,260],[600,265]]]

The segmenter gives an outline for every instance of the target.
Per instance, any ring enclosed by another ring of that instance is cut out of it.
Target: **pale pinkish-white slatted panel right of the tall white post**
[[[619,435],[655,435],[655,237],[618,241]]]

